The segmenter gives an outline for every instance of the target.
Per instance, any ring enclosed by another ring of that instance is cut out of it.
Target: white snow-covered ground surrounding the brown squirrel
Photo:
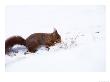
[[[24,55],[26,48],[5,58],[6,71],[105,71],[104,6],[16,6],[6,9],[6,38],[58,30],[62,42]],[[15,56],[16,55],[16,56]]]

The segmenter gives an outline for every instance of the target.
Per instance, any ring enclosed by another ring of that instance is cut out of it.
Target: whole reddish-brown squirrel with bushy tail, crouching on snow
[[[50,46],[60,42],[61,36],[56,29],[53,33],[34,33],[26,39],[21,36],[12,36],[5,41],[5,54],[9,53],[16,44],[26,46],[29,52],[34,53],[42,45],[49,49]]]

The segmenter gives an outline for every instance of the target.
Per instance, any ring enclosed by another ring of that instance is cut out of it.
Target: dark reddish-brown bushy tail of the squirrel
[[[16,44],[26,46],[26,40],[21,36],[12,36],[5,40],[5,54],[7,54]]]

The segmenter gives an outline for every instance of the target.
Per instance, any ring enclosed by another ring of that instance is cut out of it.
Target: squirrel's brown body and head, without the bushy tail
[[[34,33],[26,39],[26,47],[30,52],[35,52],[41,45],[49,49],[55,43],[61,42],[61,37],[57,30],[53,33]]]

